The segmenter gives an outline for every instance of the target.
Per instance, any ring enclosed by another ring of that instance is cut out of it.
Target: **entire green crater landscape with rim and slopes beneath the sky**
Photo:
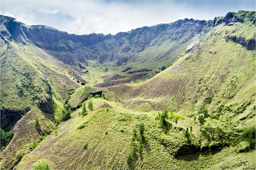
[[[254,169],[255,36],[247,11],[117,35],[1,15],[1,169]]]

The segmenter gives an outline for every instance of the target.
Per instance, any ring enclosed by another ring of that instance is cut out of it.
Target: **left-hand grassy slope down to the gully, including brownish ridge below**
[[[34,141],[40,141],[56,128],[56,120],[62,116],[67,90],[79,85],[66,76],[69,67],[65,68],[64,64],[36,46],[15,41],[4,43],[1,39],[1,48],[4,49],[1,50],[1,109],[29,108],[13,127],[14,137],[1,153],[1,169],[9,169],[30,152],[29,147]],[[51,94],[47,86],[51,86]],[[38,102],[45,95],[52,95],[56,103],[54,113],[48,114],[38,109]],[[40,121],[40,130],[34,125],[36,119]]]

